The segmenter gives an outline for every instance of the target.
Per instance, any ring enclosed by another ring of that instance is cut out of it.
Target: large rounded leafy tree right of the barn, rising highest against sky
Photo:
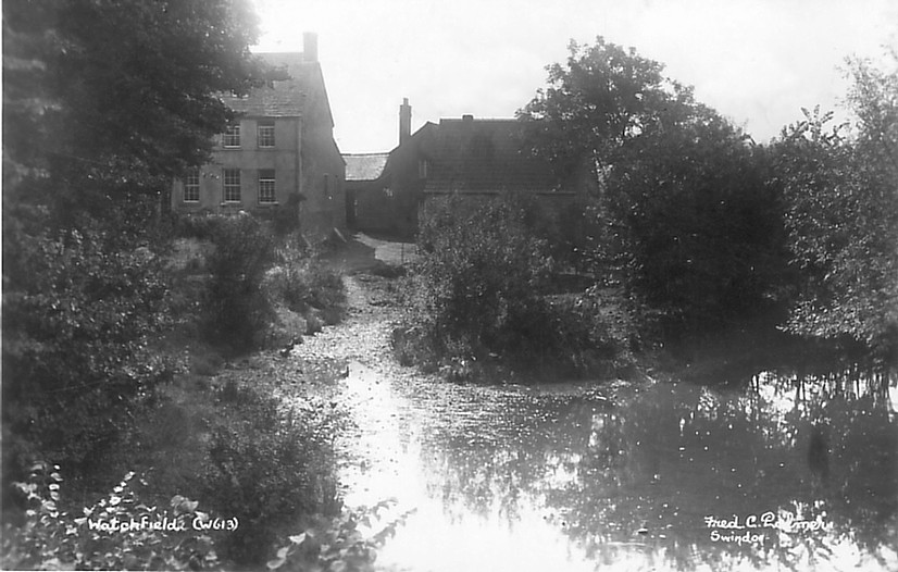
[[[560,174],[595,177],[597,270],[677,334],[766,303],[784,233],[764,153],[634,49],[600,37],[570,52],[519,117]]]

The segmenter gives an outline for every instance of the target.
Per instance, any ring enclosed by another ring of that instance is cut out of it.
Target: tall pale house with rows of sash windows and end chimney
[[[219,136],[212,161],[176,181],[172,208],[187,213],[272,214],[299,200],[299,228],[310,240],[346,227],[346,163],[317,61],[317,36],[303,51],[260,54],[288,78],[246,97],[222,96],[237,119]]]

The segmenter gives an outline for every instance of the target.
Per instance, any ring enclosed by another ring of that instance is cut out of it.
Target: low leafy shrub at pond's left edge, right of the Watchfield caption
[[[321,401],[283,411],[280,400],[235,382],[219,393],[202,498],[239,515],[227,555],[264,561],[277,532],[300,515],[337,510],[333,438],[341,415]]]

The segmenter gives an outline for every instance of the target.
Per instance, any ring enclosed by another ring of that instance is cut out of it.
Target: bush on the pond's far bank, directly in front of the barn
[[[490,361],[517,371],[619,374],[636,340],[623,304],[591,288],[546,297],[552,259],[526,201],[460,198],[427,203],[423,260],[406,291],[411,312],[392,335],[400,363],[450,378],[489,373]]]

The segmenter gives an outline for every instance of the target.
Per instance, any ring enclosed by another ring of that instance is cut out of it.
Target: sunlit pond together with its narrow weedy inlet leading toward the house
[[[799,399],[788,376],[772,374],[758,387],[727,386],[716,372],[744,370],[744,358],[737,351],[719,361],[716,350],[688,364],[696,383],[672,373],[687,364],[671,357],[658,358],[657,369],[641,362],[647,376],[638,382],[447,383],[391,357],[387,340],[402,313],[396,282],[345,279],[347,321],[288,360],[333,378],[280,395],[302,403],[308,389],[328,391],[351,420],[336,439],[344,501],[390,499],[382,518],[403,519],[376,570],[579,571],[597,561],[766,570],[815,559],[885,570],[898,562],[889,548],[895,507],[882,505],[895,484],[872,469],[894,458],[898,433],[887,405],[845,387],[836,398],[825,385],[810,385]],[[814,428],[821,420],[835,424],[825,436]],[[809,456],[821,449],[814,443],[826,452]],[[870,525],[873,497],[885,527]],[[768,513],[783,524],[745,545],[722,542],[734,536],[704,520]],[[825,526],[800,536],[797,521]],[[845,540],[849,530],[860,531],[862,547]],[[806,542],[820,549],[802,551]]]

